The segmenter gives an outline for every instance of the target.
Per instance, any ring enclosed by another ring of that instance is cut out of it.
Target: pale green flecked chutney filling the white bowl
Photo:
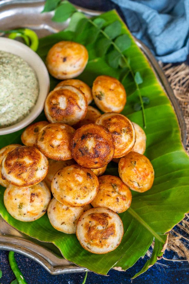
[[[25,118],[38,95],[35,71],[21,57],[0,50],[0,128]]]

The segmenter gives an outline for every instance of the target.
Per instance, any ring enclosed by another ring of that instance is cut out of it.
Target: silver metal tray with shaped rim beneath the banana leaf
[[[44,1],[23,1],[23,0],[2,0],[0,1],[0,30],[13,29],[18,27],[28,27],[44,37],[52,33],[59,32],[67,27],[68,22],[63,24],[52,22],[53,12],[41,14],[44,7]],[[78,10],[84,12],[88,17],[101,14],[100,11],[92,11],[77,7]],[[1,36],[1,34],[0,34]],[[160,68],[158,62],[150,52],[150,50],[138,39],[135,39],[137,45],[143,51],[151,64],[159,82],[169,97],[181,130],[181,139],[183,145],[186,144],[186,127],[182,111],[177,103],[173,91],[167,82],[167,79]],[[41,264],[51,274],[84,272],[85,268],[76,266],[65,260],[58,248],[52,243],[37,241],[27,235],[18,232],[16,229],[8,225],[0,217],[0,249],[13,250],[32,258]]]

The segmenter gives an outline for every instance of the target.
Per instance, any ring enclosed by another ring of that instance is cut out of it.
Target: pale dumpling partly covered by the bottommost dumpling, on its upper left
[[[75,234],[79,217],[92,206],[68,207],[53,198],[48,206],[48,218],[50,224],[58,231],[66,234]]]

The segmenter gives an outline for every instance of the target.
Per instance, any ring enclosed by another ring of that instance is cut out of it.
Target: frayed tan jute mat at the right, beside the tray
[[[175,97],[182,109],[184,120],[186,123],[186,151],[189,154],[189,66],[185,63],[173,66],[172,64],[164,65],[159,62],[165,76],[167,77]],[[153,248],[152,243],[152,248]],[[177,253],[178,259],[169,259],[169,261],[188,261],[189,263],[189,215],[185,214],[185,218],[169,233],[167,250]],[[148,250],[147,256],[151,251]],[[168,260],[163,256],[163,259]]]

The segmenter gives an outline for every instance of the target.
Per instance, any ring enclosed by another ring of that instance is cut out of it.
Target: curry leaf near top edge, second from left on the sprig
[[[68,1],[63,1],[56,8],[52,21],[65,22],[75,11],[77,10],[71,3],[69,3]]]

